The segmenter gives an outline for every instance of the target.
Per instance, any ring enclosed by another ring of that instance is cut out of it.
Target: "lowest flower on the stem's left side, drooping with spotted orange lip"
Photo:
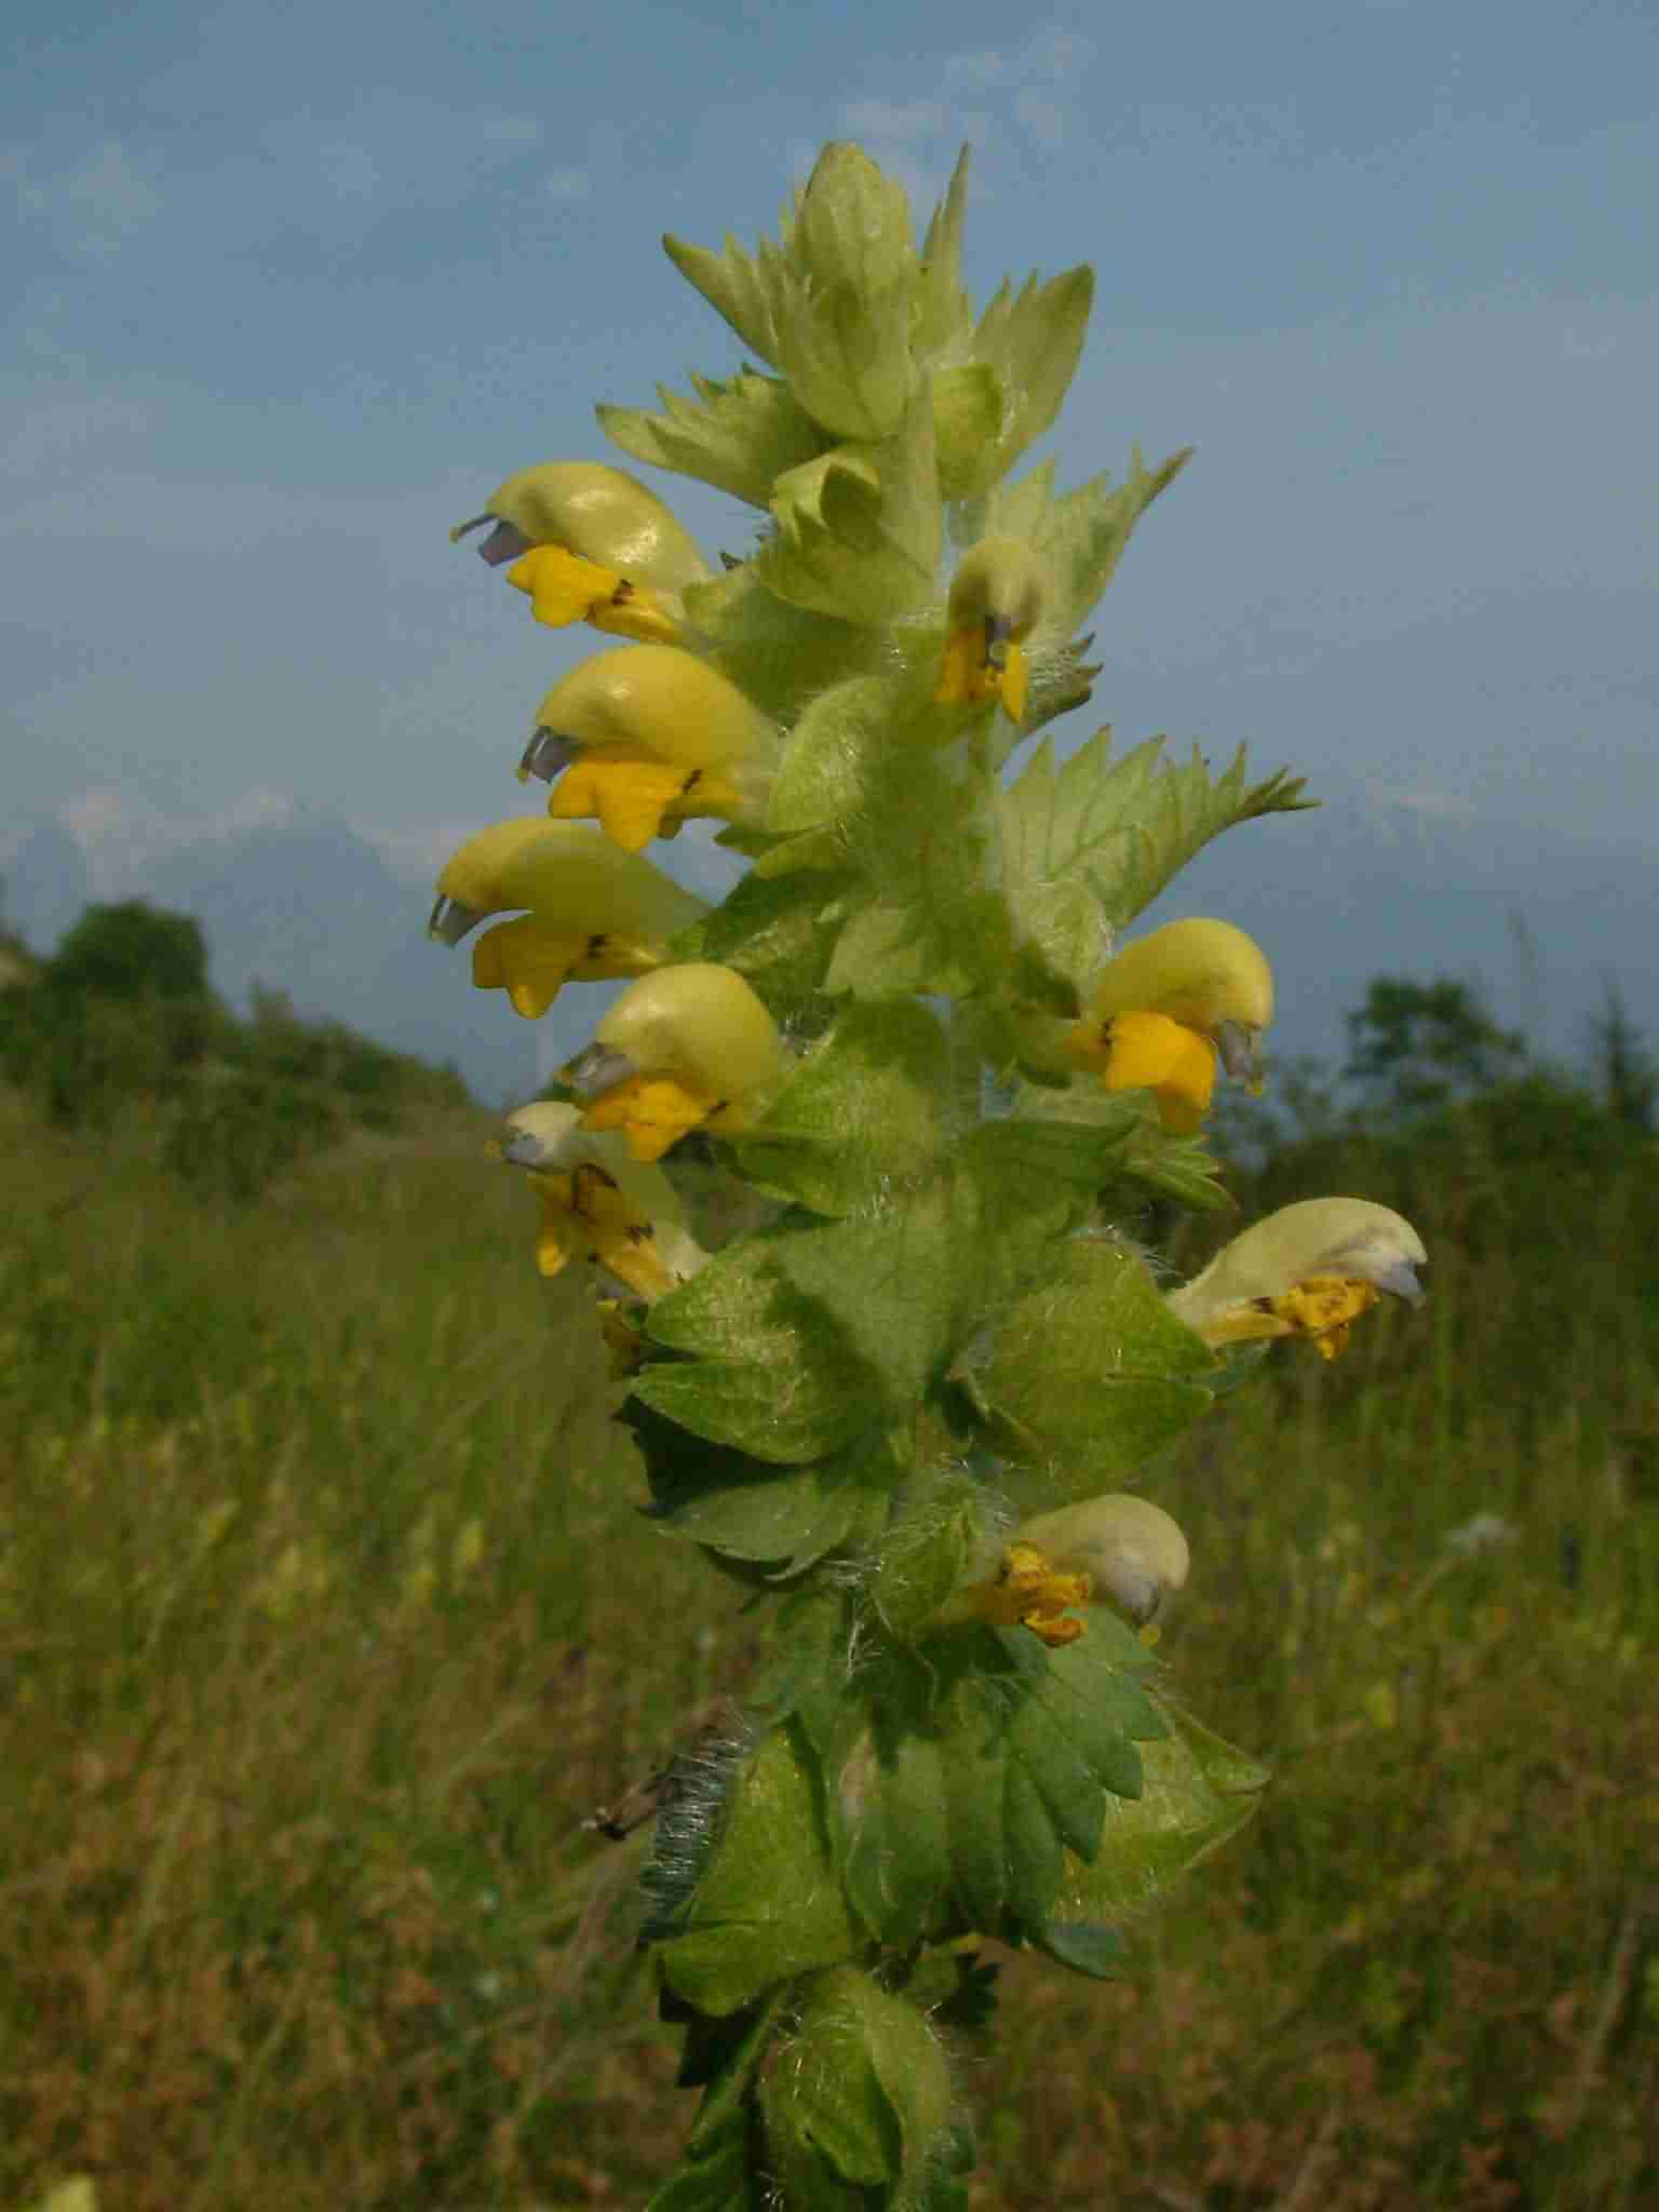
[[[542,1274],[586,1259],[650,1303],[706,1263],[661,1168],[633,1159],[619,1137],[584,1130],[580,1106],[538,1099],[511,1113],[507,1128],[511,1135],[495,1150],[529,1172],[542,1201],[535,1239]]]

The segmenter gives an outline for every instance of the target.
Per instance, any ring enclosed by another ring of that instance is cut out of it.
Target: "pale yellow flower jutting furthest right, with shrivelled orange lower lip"
[[[1303,1199],[1256,1221],[1168,1294],[1168,1307],[1208,1345],[1303,1336],[1321,1358],[1347,1347],[1380,1292],[1416,1305],[1425,1263],[1411,1223],[1369,1199]]]

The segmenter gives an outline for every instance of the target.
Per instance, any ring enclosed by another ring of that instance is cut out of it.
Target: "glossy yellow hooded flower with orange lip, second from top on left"
[[[562,779],[555,821],[597,818],[624,852],[697,814],[761,810],[772,723],[708,661],[677,646],[617,646],[573,668],[535,712],[520,779]]]

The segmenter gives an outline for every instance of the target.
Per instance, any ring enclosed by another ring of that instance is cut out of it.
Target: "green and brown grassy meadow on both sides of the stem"
[[[484,1135],[434,1104],[239,1201],[0,1091],[7,2212],[672,2168],[646,1838],[584,1823],[765,1624],[635,1515]],[[982,2212],[1659,2203],[1655,1155],[1520,1194],[1436,1157],[1429,1305],[1279,1349],[1148,1482],[1194,1548],[1170,1679],[1276,1783],[1121,1982],[1006,1960]],[[1307,1166],[1398,1203],[1398,1161]]]

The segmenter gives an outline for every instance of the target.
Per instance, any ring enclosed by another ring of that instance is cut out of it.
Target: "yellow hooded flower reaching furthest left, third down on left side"
[[[546,1013],[568,980],[650,973],[668,958],[668,938],[708,911],[599,830],[540,816],[491,823],[447,860],[429,933],[458,945],[511,907],[529,911],[484,931],[473,982],[507,991],[526,1020]]]

